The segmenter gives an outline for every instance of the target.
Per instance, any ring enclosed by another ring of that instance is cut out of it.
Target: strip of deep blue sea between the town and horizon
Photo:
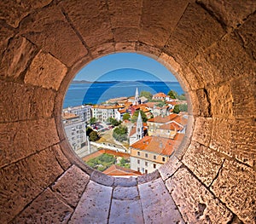
[[[183,89],[178,82],[106,82],[106,83],[71,83],[63,102],[63,108],[79,106],[82,104],[100,104],[111,98],[121,96],[134,96],[136,88],[151,94],[163,92],[167,94],[171,89],[178,95],[183,94]]]

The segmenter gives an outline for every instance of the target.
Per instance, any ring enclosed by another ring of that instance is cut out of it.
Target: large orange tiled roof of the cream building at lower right
[[[131,147],[156,154],[170,156],[174,150],[173,146],[175,145],[176,142],[168,138],[145,136],[140,141],[132,144]]]

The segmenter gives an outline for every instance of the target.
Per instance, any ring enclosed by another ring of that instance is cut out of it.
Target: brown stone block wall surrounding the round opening
[[[256,2],[1,1],[0,222],[253,223]],[[68,145],[61,106],[90,60],[159,60],[190,127],[159,171],[113,178]]]

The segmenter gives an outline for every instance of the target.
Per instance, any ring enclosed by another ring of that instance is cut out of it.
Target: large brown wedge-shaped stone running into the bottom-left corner
[[[0,221],[9,222],[61,175],[50,149],[36,153],[0,170]]]

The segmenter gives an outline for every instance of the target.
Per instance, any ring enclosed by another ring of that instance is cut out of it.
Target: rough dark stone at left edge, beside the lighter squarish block
[[[0,76],[18,78],[26,71],[37,48],[24,37],[15,37],[9,42],[0,64]]]

